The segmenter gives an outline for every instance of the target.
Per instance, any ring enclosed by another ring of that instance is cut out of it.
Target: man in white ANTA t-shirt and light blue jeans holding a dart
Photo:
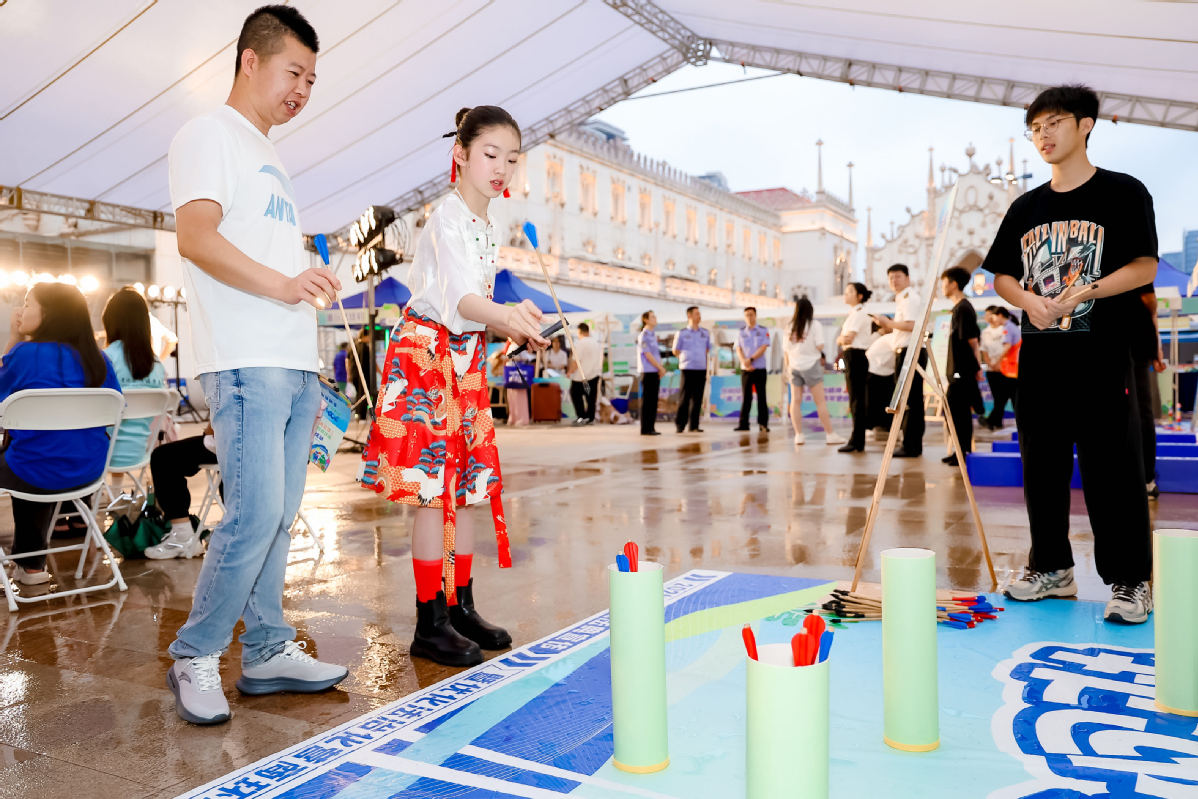
[[[193,724],[229,719],[219,660],[237,619],[246,623],[243,694],[321,691],[347,673],[305,654],[283,617],[289,531],[320,411],[314,308],[341,286],[328,270],[307,268],[298,201],[267,134],[307,104],[317,48],[298,11],[259,8],[237,40],[226,104],[184,125],[170,145],[196,373],[225,503],[169,649],[167,684]]]

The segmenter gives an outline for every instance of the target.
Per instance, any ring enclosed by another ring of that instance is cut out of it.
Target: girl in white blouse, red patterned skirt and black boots
[[[502,108],[479,105],[458,111],[446,137],[454,137],[449,181],[456,187],[416,246],[413,293],[387,349],[362,484],[416,508],[411,654],[472,666],[483,661],[482,649],[512,644],[506,630],[474,610],[474,523],[468,513],[456,513],[490,502],[500,567],[512,565],[485,331],[534,349],[549,343],[532,302],[491,302],[500,237],[488,206],[515,174],[520,128]]]

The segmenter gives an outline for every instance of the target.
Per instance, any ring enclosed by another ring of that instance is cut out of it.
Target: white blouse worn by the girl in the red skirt
[[[482,322],[458,313],[458,303],[471,293],[491,298],[497,254],[495,225],[471,211],[461,195],[453,192],[429,214],[416,243],[409,308],[452,333],[484,329]]]

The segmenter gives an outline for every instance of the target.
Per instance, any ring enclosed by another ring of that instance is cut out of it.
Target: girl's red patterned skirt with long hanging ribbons
[[[446,598],[454,601],[456,508],[489,501],[501,568],[512,565],[500,494],[484,333],[450,333],[404,310],[387,347],[362,485],[392,502],[444,513]]]

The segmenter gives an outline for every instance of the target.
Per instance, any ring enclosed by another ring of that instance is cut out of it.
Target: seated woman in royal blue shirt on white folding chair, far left
[[[0,362],[0,400],[26,388],[113,388],[113,364],[91,332],[87,302],[74,286],[38,283],[13,311]],[[0,488],[56,494],[93,483],[104,472],[108,432],[12,430],[0,450]],[[12,555],[46,549],[54,504],[12,500]],[[16,558],[13,575],[28,586],[49,581],[46,557]]]

